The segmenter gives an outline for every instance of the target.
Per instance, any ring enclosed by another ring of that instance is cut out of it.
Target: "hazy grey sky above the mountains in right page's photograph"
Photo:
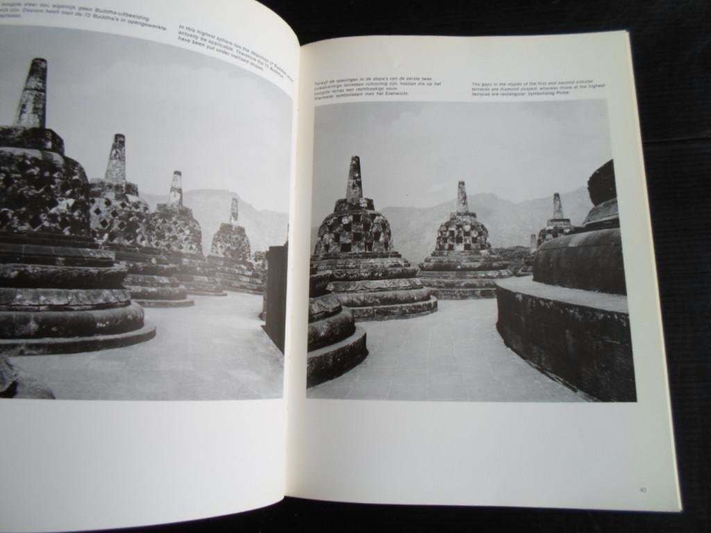
[[[316,108],[314,225],[346,193],[351,156],[375,208],[494,193],[565,193],[612,157],[606,102],[365,102]]]

